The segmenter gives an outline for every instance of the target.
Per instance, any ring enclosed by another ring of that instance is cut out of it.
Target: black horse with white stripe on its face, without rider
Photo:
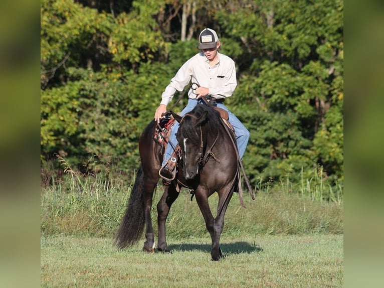
[[[193,191],[211,234],[213,260],[223,257],[220,235],[228,203],[240,178],[236,139],[227,132],[219,113],[210,105],[198,104],[192,111],[180,117],[172,112],[180,123],[177,141],[181,148],[178,173],[175,181],[165,186],[157,204],[157,249],[170,252],[165,240],[165,221],[172,203],[179,193],[179,186]],[[151,121],[139,139],[141,166],[129,197],[125,215],[117,232],[115,244],[119,248],[138,241],[146,226],[143,250],[153,252],[154,233],[150,217],[153,192],[159,180],[163,148],[154,141],[156,122]],[[241,186],[240,186],[241,190]],[[219,194],[217,216],[214,218],[208,197]],[[252,198],[254,199],[253,195]],[[242,198],[241,198],[242,199]]]

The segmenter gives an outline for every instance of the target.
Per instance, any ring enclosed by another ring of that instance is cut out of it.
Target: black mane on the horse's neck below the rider
[[[200,145],[200,133],[196,133],[196,119],[200,118],[205,112],[207,112],[207,118],[202,123],[206,128],[207,135],[217,135],[218,128],[222,125],[220,120],[220,114],[212,106],[198,103],[193,110],[186,113],[183,117],[183,125],[180,125],[179,132],[188,138],[194,145]]]

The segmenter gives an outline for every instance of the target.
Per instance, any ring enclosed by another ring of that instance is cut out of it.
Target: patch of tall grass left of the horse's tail
[[[132,183],[111,170],[82,175],[62,158],[66,174],[41,190],[41,231],[110,236],[119,224]]]

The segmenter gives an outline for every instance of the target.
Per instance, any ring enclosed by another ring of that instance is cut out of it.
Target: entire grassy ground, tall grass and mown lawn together
[[[167,218],[172,254],[146,254],[144,238],[118,250],[113,237],[132,183],[69,174],[41,190],[42,287],[341,287],[342,189],[280,183],[236,193],[225,216],[221,247],[211,261],[211,238],[196,200],[182,190]],[[154,195],[152,222],[157,235]],[[218,197],[210,200],[214,215]]]

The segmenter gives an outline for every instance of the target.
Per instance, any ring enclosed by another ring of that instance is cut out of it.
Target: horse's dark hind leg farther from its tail
[[[178,192],[173,183],[165,186],[164,193],[157,203],[157,250],[171,252],[166,244],[165,222],[172,203],[177,199]]]

